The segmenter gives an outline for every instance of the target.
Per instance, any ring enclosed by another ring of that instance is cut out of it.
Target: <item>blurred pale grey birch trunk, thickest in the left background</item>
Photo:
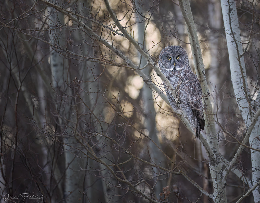
[[[52,3],[52,1],[50,2]],[[52,47],[50,48],[50,68],[53,77],[52,87],[55,91],[57,91],[59,95],[63,94],[63,92],[61,91],[66,90],[65,80],[67,79],[67,69],[65,68],[66,65],[64,65],[65,59],[58,53],[59,46],[62,46],[62,43],[64,43],[64,36],[62,36],[62,30],[56,29],[56,26],[60,26],[60,22],[62,23],[64,21],[64,16],[62,14],[59,14],[58,16],[56,11],[57,10],[55,8],[48,7],[48,25],[50,28],[49,39],[52,45]],[[72,95],[72,92],[70,92],[69,95]],[[63,102],[63,100],[59,100],[59,97],[57,97],[57,102]],[[60,106],[59,103],[56,104],[56,108],[58,106]],[[60,115],[62,115],[62,117],[64,117],[66,120],[73,120],[73,117],[70,116],[71,106],[69,102],[65,102],[64,105],[61,105],[61,108],[63,109],[57,109],[57,111],[60,111]],[[64,125],[63,122],[63,118],[60,118],[59,123],[61,126]],[[85,171],[82,169],[84,169],[84,167],[86,166],[86,159],[81,158],[83,154],[81,154],[78,150],[75,150],[75,148],[80,147],[80,144],[74,138],[73,133],[70,133],[68,130],[69,126],[73,126],[74,123],[76,123],[75,118],[72,123],[66,122],[67,128],[64,130],[66,130],[67,132],[63,132],[71,136],[69,138],[64,138],[63,142],[72,146],[71,148],[68,145],[64,145],[66,170],[64,180],[64,198],[66,199],[67,203],[75,202],[81,198],[84,198],[84,195],[82,195],[81,192],[84,191]]]

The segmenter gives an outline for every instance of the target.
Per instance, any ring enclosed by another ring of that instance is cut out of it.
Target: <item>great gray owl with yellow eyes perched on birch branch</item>
[[[202,105],[202,89],[197,76],[192,72],[186,51],[180,46],[168,46],[159,55],[159,66],[170,81],[173,95],[164,85],[166,95],[174,110],[184,113],[189,120],[196,137],[204,130],[205,120]]]

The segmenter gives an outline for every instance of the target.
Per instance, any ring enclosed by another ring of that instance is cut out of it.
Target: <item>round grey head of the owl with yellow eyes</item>
[[[159,66],[162,72],[180,71],[189,67],[188,55],[180,46],[165,47],[159,55]]]

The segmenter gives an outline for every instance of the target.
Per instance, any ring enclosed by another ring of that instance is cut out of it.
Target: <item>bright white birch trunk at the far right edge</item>
[[[224,20],[224,26],[226,31],[226,39],[228,44],[229,61],[231,79],[237,98],[238,108],[241,111],[241,115],[244,119],[246,127],[250,126],[250,123],[254,116],[254,110],[250,106],[250,93],[245,72],[244,58],[241,56],[243,53],[243,47],[241,44],[240,30],[238,24],[238,16],[236,10],[236,1],[221,0],[222,14]],[[256,118],[257,119],[257,118]],[[246,134],[249,137],[249,144],[253,148],[259,149],[259,140],[256,139],[259,135],[259,119],[256,121],[257,124],[251,131],[250,134]],[[252,163],[252,185],[259,182],[260,177],[260,153],[259,151],[251,150],[251,163]],[[255,202],[260,201],[260,191],[255,189],[252,191]]]

